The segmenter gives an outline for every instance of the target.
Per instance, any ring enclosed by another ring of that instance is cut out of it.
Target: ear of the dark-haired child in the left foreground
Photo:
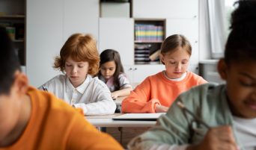
[[[13,85],[20,96],[24,95],[28,91],[28,77],[24,73],[16,71]]]

